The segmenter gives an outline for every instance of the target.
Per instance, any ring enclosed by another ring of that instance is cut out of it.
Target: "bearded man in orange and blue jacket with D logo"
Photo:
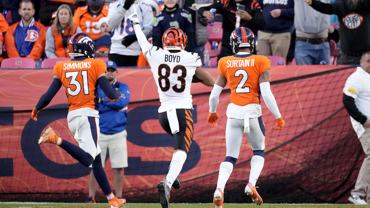
[[[18,13],[21,21],[10,26],[5,34],[8,56],[39,60],[45,51],[46,29],[33,18],[35,10],[30,0],[19,3]]]

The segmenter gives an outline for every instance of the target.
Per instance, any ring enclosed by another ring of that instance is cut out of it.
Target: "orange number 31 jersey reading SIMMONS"
[[[61,61],[55,64],[54,74],[65,87],[70,108],[99,109],[97,78],[107,72],[107,65],[101,59],[86,58],[82,61]]]

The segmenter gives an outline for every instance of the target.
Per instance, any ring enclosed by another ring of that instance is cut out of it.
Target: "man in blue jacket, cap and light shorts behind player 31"
[[[127,162],[127,104],[130,100],[130,91],[128,86],[116,80],[117,64],[113,61],[107,61],[107,74],[105,75],[110,81],[113,88],[122,92],[121,98],[115,102],[107,100],[100,86],[99,91],[99,127],[100,137],[98,144],[101,149],[101,161],[104,168],[107,150],[109,150],[109,157],[111,160],[111,167],[113,168],[113,185],[115,188],[115,196],[122,198],[123,189],[123,175],[122,168],[128,167]],[[95,203],[95,192],[98,188],[92,171],[89,179],[89,197],[86,203]]]

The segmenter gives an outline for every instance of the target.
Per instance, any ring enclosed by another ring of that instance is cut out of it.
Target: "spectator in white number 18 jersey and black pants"
[[[153,9],[151,6],[139,0],[118,0],[110,3],[108,26],[114,31],[108,57],[109,60],[117,63],[117,66],[137,66],[141,53],[134,28],[128,19],[134,8],[138,11],[138,21],[143,33],[147,38],[152,37]]]

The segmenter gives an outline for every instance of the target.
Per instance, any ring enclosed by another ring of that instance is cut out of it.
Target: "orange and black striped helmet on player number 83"
[[[164,50],[185,50],[188,37],[180,28],[170,27],[162,36]]]

